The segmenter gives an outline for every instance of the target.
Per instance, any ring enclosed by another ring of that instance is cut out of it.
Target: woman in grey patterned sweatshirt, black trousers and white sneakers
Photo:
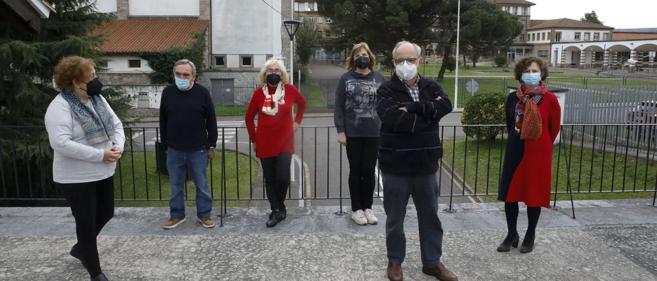
[[[338,142],[349,160],[351,219],[359,225],[378,223],[372,212],[374,167],[381,121],[376,115],[376,89],[385,81],[373,70],[376,60],[367,43],[353,46],[347,69],[336,89],[333,112]]]

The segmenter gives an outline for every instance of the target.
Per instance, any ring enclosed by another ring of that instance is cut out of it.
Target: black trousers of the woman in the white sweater
[[[114,177],[89,183],[55,183],[76,219],[78,244],[91,277],[102,273],[96,237],[114,216]]]

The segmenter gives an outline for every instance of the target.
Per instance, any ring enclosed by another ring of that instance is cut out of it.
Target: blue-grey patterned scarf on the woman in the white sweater
[[[102,101],[101,96],[89,97],[96,111],[96,114],[94,114],[91,108],[84,104],[78,95],[64,90],[59,95],[62,95],[64,100],[71,106],[76,120],[82,125],[89,144],[96,144],[107,140],[114,141],[112,114],[110,114],[107,105]]]

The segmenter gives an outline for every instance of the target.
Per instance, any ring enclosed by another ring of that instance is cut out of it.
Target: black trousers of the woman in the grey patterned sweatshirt
[[[378,138],[347,137],[351,211],[372,209]]]

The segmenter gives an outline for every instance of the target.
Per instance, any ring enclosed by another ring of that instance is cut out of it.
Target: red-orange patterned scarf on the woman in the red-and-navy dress
[[[519,99],[516,104],[516,133],[520,133],[520,139],[536,141],[541,137],[543,119],[536,104],[545,95],[545,87],[543,82],[533,88],[521,83],[516,92]]]

